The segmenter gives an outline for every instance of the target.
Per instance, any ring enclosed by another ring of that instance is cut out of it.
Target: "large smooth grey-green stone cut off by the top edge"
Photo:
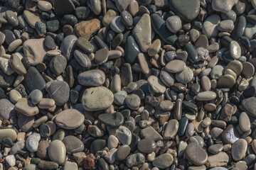
[[[184,21],[192,21],[200,11],[200,0],[171,0],[170,8]]]

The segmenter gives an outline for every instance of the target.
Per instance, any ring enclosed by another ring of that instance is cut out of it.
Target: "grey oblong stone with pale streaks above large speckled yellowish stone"
[[[105,83],[105,73],[100,69],[91,69],[78,74],[78,82],[82,86],[101,86]]]

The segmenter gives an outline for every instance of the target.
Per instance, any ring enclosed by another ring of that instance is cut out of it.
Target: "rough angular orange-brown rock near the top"
[[[89,40],[92,34],[96,33],[97,30],[100,30],[100,21],[96,18],[90,21],[81,21],[75,24],[74,27],[75,34],[86,40]]]

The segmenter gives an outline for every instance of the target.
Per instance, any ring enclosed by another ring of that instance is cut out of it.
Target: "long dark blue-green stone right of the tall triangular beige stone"
[[[151,15],[151,24],[154,28],[154,31],[161,37],[164,42],[174,45],[177,40],[177,36],[174,33],[171,33],[166,27],[166,22],[159,16],[154,13]]]

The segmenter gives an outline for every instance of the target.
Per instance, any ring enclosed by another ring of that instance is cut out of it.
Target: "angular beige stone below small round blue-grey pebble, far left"
[[[33,116],[39,113],[38,107],[33,106],[27,98],[21,98],[14,106],[14,109],[26,116]]]

